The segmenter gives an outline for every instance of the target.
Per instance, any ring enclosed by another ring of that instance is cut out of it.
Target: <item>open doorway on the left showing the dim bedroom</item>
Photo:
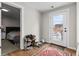
[[[1,3],[1,55],[20,49],[20,11],[7,3]]]

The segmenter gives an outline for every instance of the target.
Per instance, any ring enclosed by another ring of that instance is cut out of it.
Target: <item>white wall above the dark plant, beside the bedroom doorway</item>
[[[27,7],[24,10],[24,35],[34,34],[39,39],[39,12]]]

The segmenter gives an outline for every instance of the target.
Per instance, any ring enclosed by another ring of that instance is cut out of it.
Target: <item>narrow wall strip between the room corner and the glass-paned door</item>
[[[43,13],[41,19],[41,39],[45,42],[49,40],[49,14]]]

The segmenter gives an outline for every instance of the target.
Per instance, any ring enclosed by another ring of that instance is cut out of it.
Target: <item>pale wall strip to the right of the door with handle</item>
[[[76,49],[76,5],[70,8],[69,47]]]

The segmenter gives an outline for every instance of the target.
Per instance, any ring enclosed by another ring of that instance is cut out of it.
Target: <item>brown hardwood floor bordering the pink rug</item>
[[[47,48],[47,47],[53,47],[56,48],[58,50],[61,50],[63,52],[66,52],[69,54],[69,56],[75,56],[76,55],[76,51],[72,50],[72,49],[68,49],[65,47],[61,47],[61,46],[57,46],[57,45],[53,45],[53,44],[43,44],[41,47],[34,47],[33,49],[30,50],[17,50],[17,51],[13,51],[7,55],[9,56],[36,56],[41,50]]]

